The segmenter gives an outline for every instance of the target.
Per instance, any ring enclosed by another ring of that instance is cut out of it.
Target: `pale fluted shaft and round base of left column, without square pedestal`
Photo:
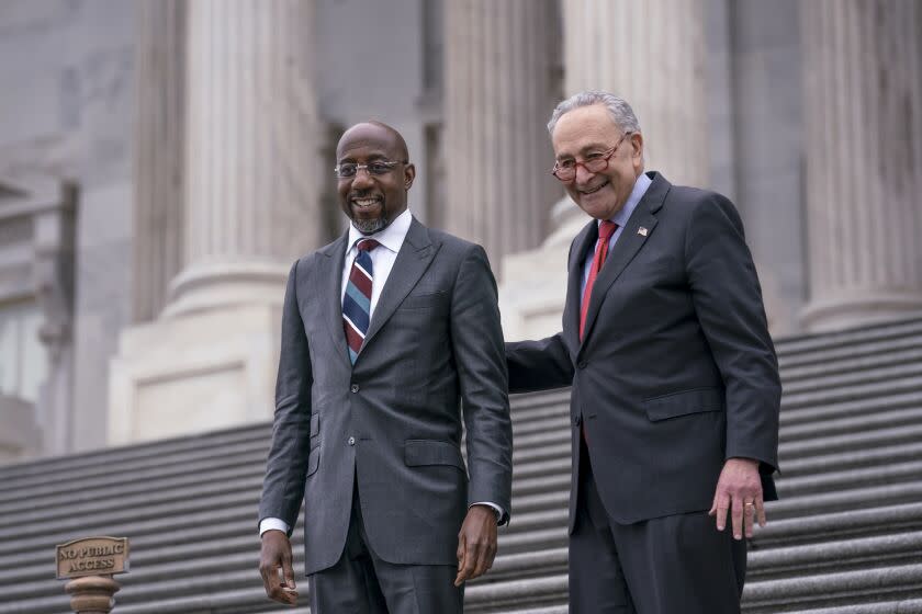
[[[189,4],[184,269],[168,315],[277,297],[326,237],[311,0]]]

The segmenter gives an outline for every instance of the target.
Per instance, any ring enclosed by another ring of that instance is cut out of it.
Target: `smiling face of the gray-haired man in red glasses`
[[[564,113],[554,127],[551,141],[558,162],[580,162],[603,154],[618,143],[623,130],[601,104],[581,106]],[[615,217],[631,195],[634,182],[643,172],[643,137],[630,134],[608,159],[601,172],[588,172],[582,164],[576,178],[564,187],[580,208],[596,219]]]

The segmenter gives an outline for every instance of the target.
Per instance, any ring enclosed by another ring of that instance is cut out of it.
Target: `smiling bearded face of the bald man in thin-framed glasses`
[[[378,232],[406,211],[406,193],[413,185],[416,169],[406,163],[406,144],[395,129],[376,123],[352,126],[339,139],[336,161],[337,164],[400,162],[383,174],[372,174],[362,168],[355,177],[338,180],[339,205],[360,232]]]

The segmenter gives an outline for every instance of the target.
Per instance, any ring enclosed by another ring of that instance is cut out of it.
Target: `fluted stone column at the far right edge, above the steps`
[[[922,4],[800,3],[810,299],[829,330],[922,309]]]

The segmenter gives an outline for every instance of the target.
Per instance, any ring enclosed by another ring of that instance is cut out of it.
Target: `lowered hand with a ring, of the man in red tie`
[[[730,510],[733,538],[752,537],[753,518],[765,526],[765,502],[762,500],[762,479],[758,477],[758,461],[752,458],[728,458],[717,480],[717,492],[708,515],[717,515],[717,530],[727,526],[727,511]]]

